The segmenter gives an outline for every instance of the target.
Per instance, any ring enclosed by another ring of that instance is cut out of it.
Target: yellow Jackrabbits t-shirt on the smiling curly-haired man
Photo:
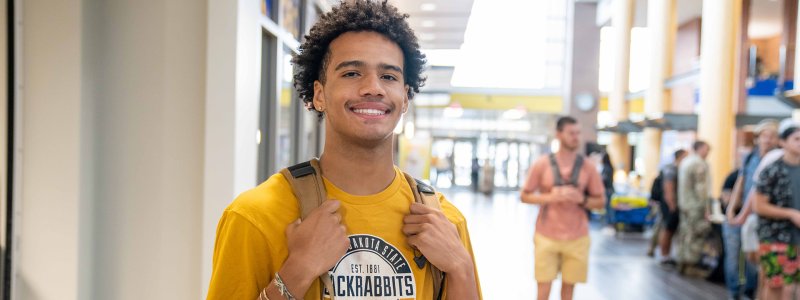
[[[341,201],[339,212],[350,238],[350,248],[330,271],[334,299],[434,298],[431,273],[414,263],[402,232],[414,197],[400,170],[395,173],[389,187],[369,196],[350,195],[325,180],[328,198]],[[474,263],[464,216],[437,196]],[[286,226],[299,217],[297,199],[280,173],[239,195],[217,226],[208,299],[256,299],[286,260]],[[319,297],[316,280],[305,299]]]

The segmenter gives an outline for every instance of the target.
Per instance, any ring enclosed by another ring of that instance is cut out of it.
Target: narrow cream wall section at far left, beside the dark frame
[[[18,1],[19,3],[19,1]],[[81,216],[81,6],[79,0],[27,1],[19,299],[76,299]],[[19,124],[19,123],[18,123]]]

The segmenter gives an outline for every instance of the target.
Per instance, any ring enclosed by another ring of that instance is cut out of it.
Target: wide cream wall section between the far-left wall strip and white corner
[[[92,0],[94,299],[201,294],[206,7]],[[90,18],[90,16],[86,18]]]

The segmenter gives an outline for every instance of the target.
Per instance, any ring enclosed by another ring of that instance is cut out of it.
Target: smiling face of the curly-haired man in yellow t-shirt
[[[325,113],[326,139],[360,145],[391,143],[408,108],[403,52],[383,35],[347,32],[331,42],[314,106]]]

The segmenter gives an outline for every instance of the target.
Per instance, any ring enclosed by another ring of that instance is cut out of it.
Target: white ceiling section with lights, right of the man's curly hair
[[[389,0],[409,14],[411,28],[423,49],[459,49],[473,0]],[[431,9],[433,8],[433,9]]]

